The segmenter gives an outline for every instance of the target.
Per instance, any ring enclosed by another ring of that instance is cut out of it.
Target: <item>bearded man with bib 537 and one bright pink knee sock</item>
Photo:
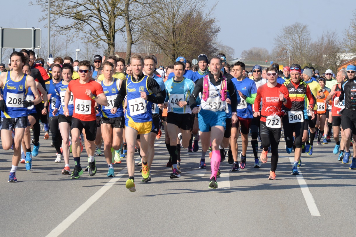
[[[236,108],[237,96],[234,84],[231,80],[222,75],[223,61],[215,57],[210,60],[211,72],[197,81],[194,92],[190,95],[189,104],[193,113],[198,113],[200,139],[201,139],[201,160],[205,161],[205,154],[209,149],[210,141],[213,155],[211,156],[211,177],[209,188],[217,188],[216,176],[220,165],[219,146],[223,140],[227,114],[226,91],[231,97],[232,123],[237,122]],[[219,88],[218,88],[219,87]],[[200,111],[196,104],[199,93],[202,95]]]

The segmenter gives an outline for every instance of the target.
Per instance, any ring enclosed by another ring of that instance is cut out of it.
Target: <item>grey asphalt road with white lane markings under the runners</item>
[[[70,180],[61,174],[64,162],[54,163],[51,138],[42,138],[32,170],[19,165],[18,183],[7,182],[12,150],[0,150],[0,236],[355,236],[356,170],[337,161],[333,141],[315,141],[313,155],[302,154],[301,175],[293,176],[293,153],[281,140],[275,181],[268,180],[269,161],[253,168],[249,144],[246,168],[230,172],[227,159],[221,162],[219,188],[211,190],[210,161],[199,169],[200,152],[182,149],[182,177],[169,178],[163,134],[152,181],[142,183],[137,167],[132,193],[125,188],[125,158],[114,165],[114,178],[106,177],[105,159],[97,156],[95,176]]]

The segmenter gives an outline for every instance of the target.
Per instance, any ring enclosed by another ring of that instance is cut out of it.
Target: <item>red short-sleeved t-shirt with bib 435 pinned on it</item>
[[[97,96],[104,93],[103,87],[96,81],[89,81],[86,84],[80,84],[80,79],[72,80],[68,85],[69,91],[72,91],[74,111],[73,118],[82,121],[96,120],[95,115],[95,100],[87,96],[86,90],[90,90],[93,95]]]

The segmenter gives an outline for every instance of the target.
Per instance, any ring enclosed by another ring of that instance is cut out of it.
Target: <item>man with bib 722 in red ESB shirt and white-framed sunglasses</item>
[[[267,162],[268,147],[271,145],[271,171],[269,171],[270,180],[276,179],[276,169],[278,163],[278,145],[281,139],[281,116],[282,104],[286,108],[291,108],[292,102],[289,98],[289,93],[284,85],[277,83],[278,70],[274,67],[267,69],[267,84],[264,84],[257,89],[255,99],[255,112],[253,117],[261,116],[261,140],[263,151],[261,153],[261,161]],[[278,97],[276,97],[278,95]],[[260,112],[260,103],[262,101],[262,109]]]

